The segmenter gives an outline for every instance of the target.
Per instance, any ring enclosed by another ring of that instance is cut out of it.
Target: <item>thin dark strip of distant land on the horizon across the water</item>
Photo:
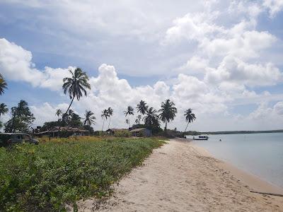
[[[270,133],[282,133],[283,129],[276,130],[260,130],[260,131],[186,131],[185,135],[195,136],[201,134],[208,135],[224,135],[224,134],[270,134]]]

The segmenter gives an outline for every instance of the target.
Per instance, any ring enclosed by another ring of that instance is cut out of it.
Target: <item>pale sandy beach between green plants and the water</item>
[[[282,189],[171,139],[114,186],[110,199],[79,201],[79,211],[283,211]]]

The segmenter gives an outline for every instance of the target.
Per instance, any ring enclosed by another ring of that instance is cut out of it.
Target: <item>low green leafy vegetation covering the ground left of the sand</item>
[[[64,211],[65,204],[108,196],[158,139],[52,139],[0,148],[0,211]]]

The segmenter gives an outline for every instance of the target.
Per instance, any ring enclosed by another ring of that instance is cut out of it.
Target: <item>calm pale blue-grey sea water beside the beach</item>
[[[216,158],[283,188],[283,133],[209,135],[208,141],[193,142]]]

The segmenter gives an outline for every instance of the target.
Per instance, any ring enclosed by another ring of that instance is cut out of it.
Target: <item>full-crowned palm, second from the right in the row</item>
[[[174,105],[174,102],[166,100],[165,102],[161,103],[161,110],[158,110],[158,112],[160,112],[159,117],[161,121],[165,123],[165,131],[167,130],[168,122],[173,121],[174,117],[176,116],[177,108],[174,107]]]

